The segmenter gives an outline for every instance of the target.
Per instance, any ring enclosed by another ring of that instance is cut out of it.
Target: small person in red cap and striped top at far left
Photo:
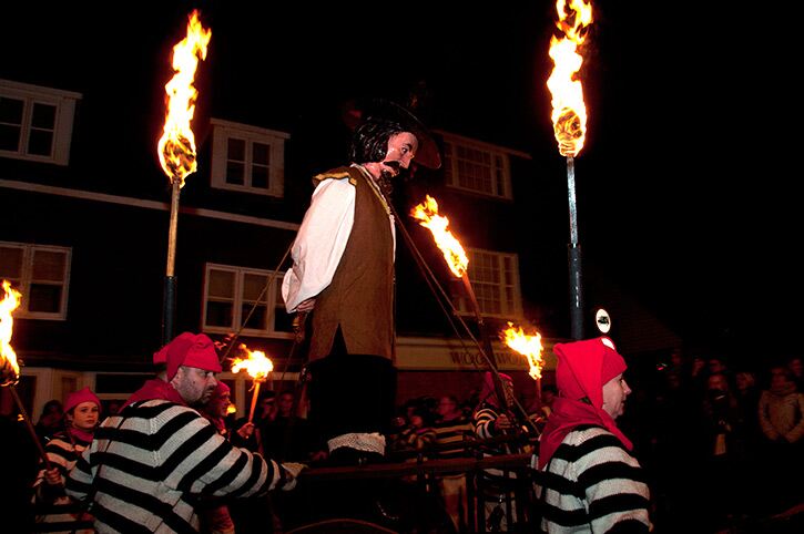
[[[65,429],[54,434],[44,446],[51,468],[45,470],[42,465],[33,483],[33,532],[95,532],[92,516],[80,503],[64,494],[64,477],[92,443],[100,410],[101,401],[89,388],[68,396],[64,402]]]

